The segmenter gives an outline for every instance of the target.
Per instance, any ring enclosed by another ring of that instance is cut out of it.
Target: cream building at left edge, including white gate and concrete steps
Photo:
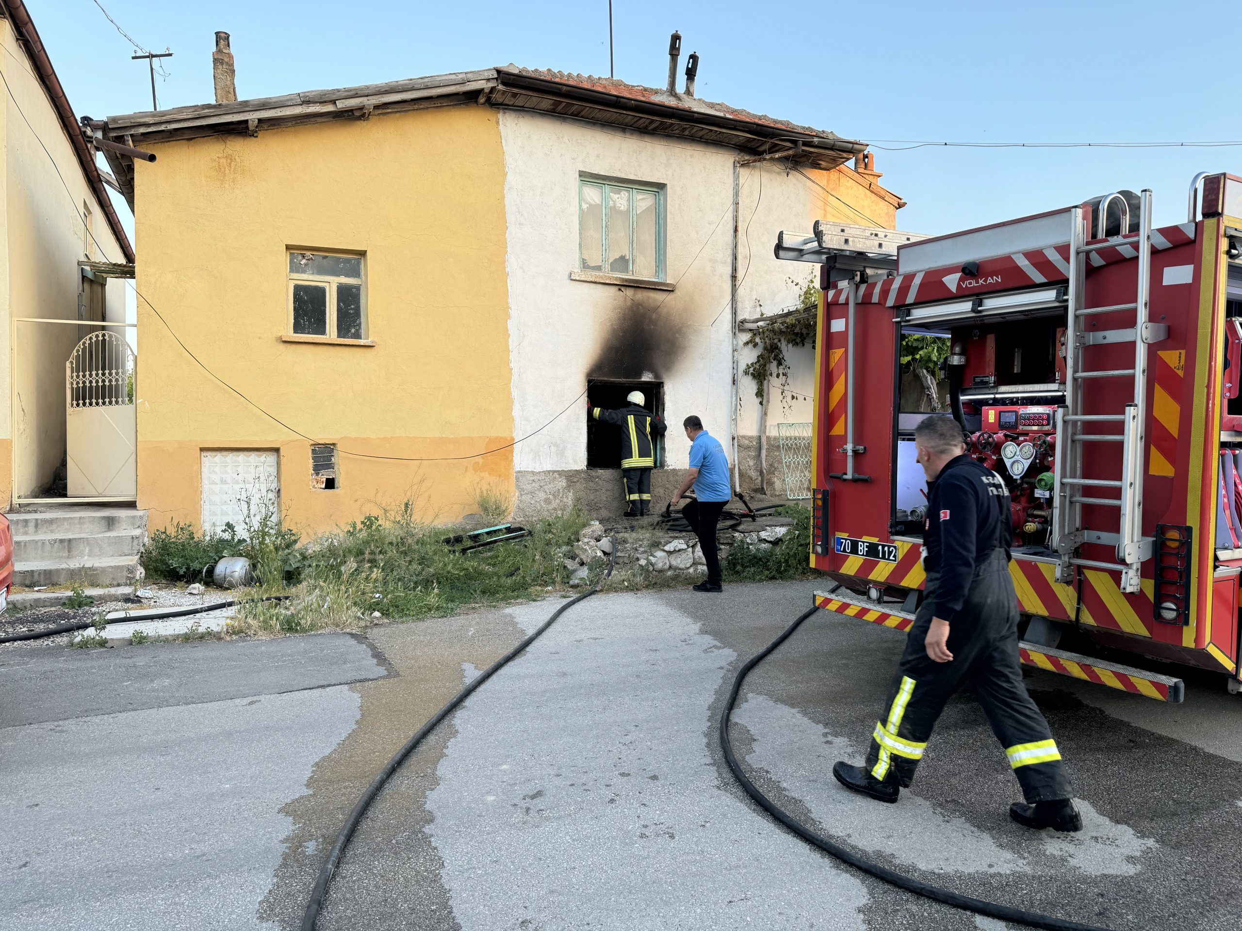
[[[14,583],[139,573],[134,251],[39,30],[0,0],[0,500]],[[84,52],[86,53],[86,52]]]

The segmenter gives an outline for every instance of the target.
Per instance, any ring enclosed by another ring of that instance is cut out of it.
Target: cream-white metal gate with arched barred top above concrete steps
[[[65,364],[70,498],[138,493],[134,351],[117,333],[87,335]]]

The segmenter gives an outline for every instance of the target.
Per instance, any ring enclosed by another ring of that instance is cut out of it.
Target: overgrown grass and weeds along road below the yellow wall
[[[573,509],[535,521],[524,540],[460,552],[443,542],[452,529],[416,520],[407,501],[351,523],[302,551],[296,587],[263,585],[255,592],[281,591],[292,597],[248,598],[230,627],[251,634],[355,629],[370,623],[375,612],[390,618],[440,617],[469,605],[544,595],[566,583],[564,552],[586,523]],[[600,564],[594,571],[601,571]]]

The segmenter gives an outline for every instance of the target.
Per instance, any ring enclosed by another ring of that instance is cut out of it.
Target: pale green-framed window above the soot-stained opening
[[[581,179],[578,185],[579,269],[663,281],[663,200],[658,187]]]

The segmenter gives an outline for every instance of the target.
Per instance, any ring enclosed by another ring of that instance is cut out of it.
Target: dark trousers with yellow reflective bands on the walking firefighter
[[[872,734],[866,768],[878,780],[892,772],[902,786],[909,786],[945,703],[969,683],[1005,747],[1026,801],[1033,804],[1069,798],[1061,752],[1022,684],[1017,596],[1005,552],[992,550],[975,569],[966,603],[949,629],[949,663],[933,660],[924,645],[932,627],[935,583],[935,573],[929,572],[883,717]]]

